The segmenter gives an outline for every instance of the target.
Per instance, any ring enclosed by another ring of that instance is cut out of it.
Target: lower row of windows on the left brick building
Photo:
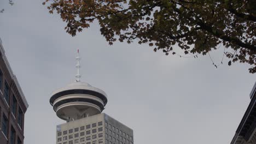
[[[0,107],[0,113],[1,113],[1,107]],[[8,137],[8,118],[4,114],[3,114],[3,119],[2,119],[2,132],[5,135],[5,137]],[[16,132],[15,132],[14,128],[11,127],[11,129],[10,129],[10,144],[16,143],[15,135],[16,135]],[[21,143],[22,142],[21,142],[20,138],[18,137],[17,144],[21,144]]]

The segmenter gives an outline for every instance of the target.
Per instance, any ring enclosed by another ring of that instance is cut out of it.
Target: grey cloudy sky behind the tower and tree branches
[[[109,46],[97,23],[71,37],[66,23],[42,0],[1,0],[0,37],[25,93],[25,144],[55,143],[51,92],[74,81],[76,49],[82,80],[108,94],[105,113],[133,129],[135,144],[230,143],[249,104],[256,75],[228,60],[218,69],[208,56],[179,58],[147,45]],[[220,61],[223,49],[212,52]]]

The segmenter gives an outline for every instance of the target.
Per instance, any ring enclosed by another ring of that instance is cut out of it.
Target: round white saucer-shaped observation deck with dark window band
[[[107,104],[107,94],[88,83],[73,82],[54,91],[50,104],[59,118],[73,121],[101,113]]]

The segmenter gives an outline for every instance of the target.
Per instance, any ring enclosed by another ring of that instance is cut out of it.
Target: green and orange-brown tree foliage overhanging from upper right
[[[166,55],[176,52],[206,55],[223,45],[231,62],[251,65],[256,73],[255,0],[46,0],[49,12],[56,11],[67,22],[72,36],[94,20],[110,45],[135,39]]]

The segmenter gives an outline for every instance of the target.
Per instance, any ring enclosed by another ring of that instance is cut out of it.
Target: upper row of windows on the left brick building
[[[0,89],[2,89],[2,83],[3,83],[3,73],[0,70]],[[3,98],[4,100],[7,102],[8,106],[9,101],[10,101],[10,87],[8,85],[8,83],[5,81],[4,82],[4,93],[3,93]],[[11,100],[11,112],[13,113],[14,117],[16,118],[17,116],[17,107],[18,107],[18,103],[17,100],[15,98],[15,96],[13,95],[12,100]],[[20,125],[20,128],[22,128],[22,121],[23,121],[23,112],[21,110],[21,108],[19,107],[18,109],[18,124]]]

